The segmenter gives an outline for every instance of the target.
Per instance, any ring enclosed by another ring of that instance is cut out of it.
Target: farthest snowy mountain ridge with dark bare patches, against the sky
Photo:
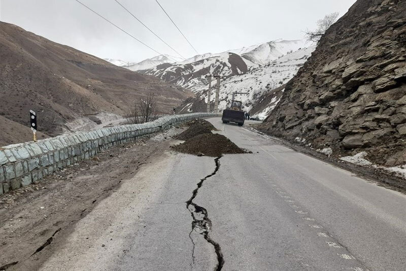
[[[158,65],[139,72],[199,92],[207,88],[205,76],[208,74],[224,77],[244,74],[305,46],[304,40],[277,40],[222,53],[196,55],[172,65]]]

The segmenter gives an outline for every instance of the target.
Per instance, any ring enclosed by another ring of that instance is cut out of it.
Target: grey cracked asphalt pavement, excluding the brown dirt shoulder
[[[222,270],[404,270],[406,195],[209,121],[253,154],[224,155],[215,172],[214,158],[163,153],[81,219],[42,269],[213,270],[207,232]]]

